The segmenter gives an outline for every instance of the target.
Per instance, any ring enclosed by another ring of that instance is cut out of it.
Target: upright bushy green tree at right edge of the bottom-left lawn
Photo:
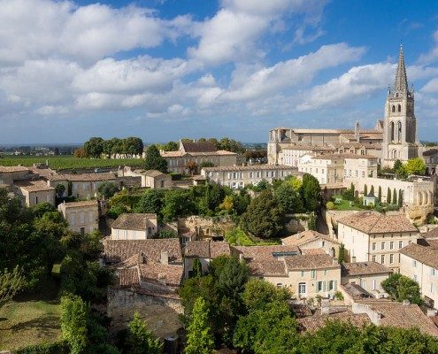
[[[61,297],[62,338],[72,354],[85,353],[88,343],[88,306],[80,296]]]

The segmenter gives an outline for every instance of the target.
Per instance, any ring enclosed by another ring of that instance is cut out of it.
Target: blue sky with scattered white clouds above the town
[[[438,140],[438,3],[0,0],[0,145],[374,127],[403,42]]]

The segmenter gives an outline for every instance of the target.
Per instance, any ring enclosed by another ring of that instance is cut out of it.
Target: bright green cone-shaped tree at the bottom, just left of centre
[[[213,335],[209,326],[209,308],[203,297],[196,299],[188,325],[186,354],[211,354],[214,351]]]

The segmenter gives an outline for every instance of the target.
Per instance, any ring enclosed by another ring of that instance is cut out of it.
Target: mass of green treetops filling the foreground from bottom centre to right
[[[438,341],[418,328],[355,327],[329,320],[302,333],[288,304],[288,290],[249,279],[246,265],[237,258],[213,259],[208,273],[198,272],[184,282],[180,296],[188,354],[211,354],[224,343],[255,354],[438,353]]]

